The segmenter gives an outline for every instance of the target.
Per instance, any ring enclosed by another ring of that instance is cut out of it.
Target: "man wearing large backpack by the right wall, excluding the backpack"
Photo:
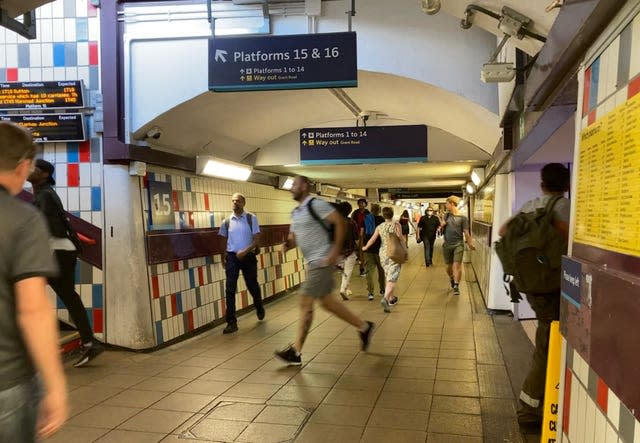
[[[569,215],[571,203],[564,197],[569,190],[569,169],[560,163],[549,163],[540,171],[542,195],[526,202],[518,212],[535,212],[544,209],[551,198],[559,197],[553,205],[552,224],[565,241],[569,238]],[[504,236],[508,230],[508,220],[500,227],[499,234]],[[518,423],[525,430],[539,430],[542,424],[542,407],[549,351],[549,333],[551,322],[560,318],[560,281],[558,288],[545,294],[526,294],[527,301],[536,313],[536,347],[531,367],[520,392]]]

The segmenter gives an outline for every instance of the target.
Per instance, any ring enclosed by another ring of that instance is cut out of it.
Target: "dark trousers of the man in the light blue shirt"
[[[260,285],[258,284],[258,260],[253,252],[248,253],[240,260],[233,252],[227,253],[226,263],[224,267],[227,282],[225,288],[225,296],[227,301],[227,312],[225,320],[227,323],[236,323],[236,290],[238,289],[238,277],[242,271],[242,277],[247,284],[249,294],[253,298],[253,304],[257,307],[262,306],[262,297],[260,296]]]

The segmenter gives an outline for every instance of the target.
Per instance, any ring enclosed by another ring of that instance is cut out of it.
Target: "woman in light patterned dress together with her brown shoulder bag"
[[[384,297],[380,301],[384,312],[391,312],[391,307],[398,302],[398,297],[394,295],[396,282],[400,277],[400,268],[402,263],[407,261],[409,252],[405,246],[404,236],[400,223],[393,221],[393,209],[382,208],[382,216],[384,223],[376,227],[375,232],[363,246],[362,250],[366,251],[380,237],[382,246],[380,246],[380,262],[384,268],[384,275],[387,285],[384,291]]]

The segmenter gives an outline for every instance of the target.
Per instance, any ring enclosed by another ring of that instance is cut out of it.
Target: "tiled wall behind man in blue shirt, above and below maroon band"
[[[261,226],[288,224],[296,202],[291,194],[269,186],[209,179],[153,169],[141,187],[144,216],[148,220],[148,180],[171,183],[176,228],[182,220],[191,227],[218,227],[231,213],[231,195],[241,192],[245,209],[256,214]],[[188,227],[188,226],[182,226]],[[156,342],[180,337],[198,327],[224,318],[225,272],[220,255],[150,265],[149,287]],[[292,288],[304,279],[304,264],[298,250],[285,257],[279,246],[264,247],[258,256],[258,282],[263,298]],[[236,308],[253,304],[244,279],[238,279]]]

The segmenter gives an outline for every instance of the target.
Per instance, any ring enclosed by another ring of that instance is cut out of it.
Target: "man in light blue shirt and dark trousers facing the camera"
[[[224,270],[227,276],[226,301],[227,327],[223,334],[231,334],[238,330],[238,320],[236,318],[236,290],[238,287],[238,277],[240,271],[247,284],[247,289],[253,304],[256,306],[258,320],[264,319],[264,306],[260,296],[260,285],[258,284],[258,259],[256,258],[256,248],[260,241],[260,226],[254,214],[244,211],[246,199],[244,195],[236,193],[231,197],[233,213],[220,226],[218,235],[226,238],[226,253],[222,256]]]

